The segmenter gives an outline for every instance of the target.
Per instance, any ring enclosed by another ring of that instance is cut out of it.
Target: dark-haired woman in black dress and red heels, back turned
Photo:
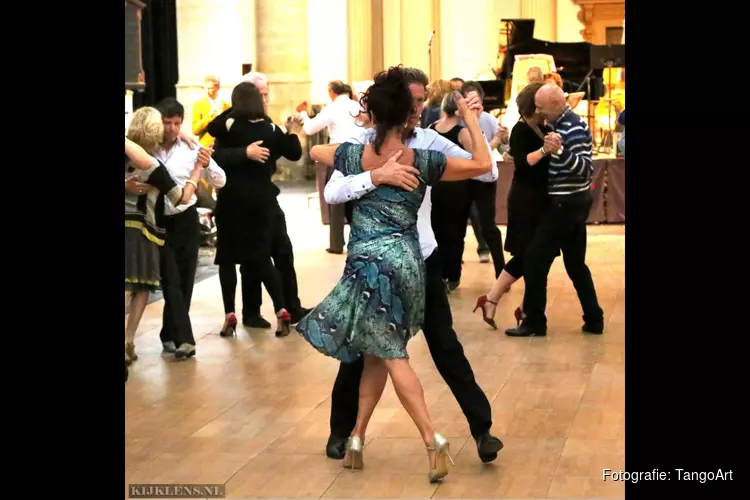
[[[245,158],[241,162],[227,161],[222,168],[227,174],[226,185],[216,199],[216,259],[224,300],[226,319],[222,336],[234,334],[237,328],[235,295],[237,291],[237,265],[254,272],[265,285],[273,301],[277,317],[277,336],[289,334],[291,316],[284,304],[281,276],[271,263],[271,243],[274,208],[279,188],[271,182],[276,160],[282,156],[295,156],[299,151],[297,139],[294,151],[287,151],[289,141],[285,133],[273,123],[268,123],[263,111],[263,98],[249,82],[237,85],[232,91],[232,107],[219,115],[206,129],[216,138],[214,150],[247,147],[263,141],[270,156],[265,162]]]

